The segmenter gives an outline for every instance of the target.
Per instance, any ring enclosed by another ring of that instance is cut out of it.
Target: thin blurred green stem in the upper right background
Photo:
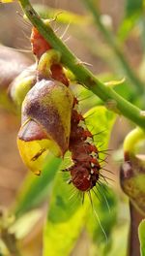
[[[134,86],[136,93],[138,94],[144,93],[145,92],[144,84],[142,83],[141,80],[139,80],[139,78],[132,71],[131,66],[129,65],[124,53],[122,52],[116,39],[114,38],[114,35],[109,30],[107,30],[105,26],[102,24],[101,15],[99,13],[99,10],[96,7],[96,1],[83,0],[83,2],[85,3],[87,8],[90,10],[92,15],[94,16],[94,20],[97,27],[102,32],[102,35],[106,40],[107,44],[109,45],[109,47],[112,48],[118,61],[122,65],[122,68],[124,69],[124,72],[126,73],[127,77],[131,80],[131,84]]]

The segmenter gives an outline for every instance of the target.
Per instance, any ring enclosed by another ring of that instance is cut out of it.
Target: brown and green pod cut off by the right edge
[[[145,215],[145,161],[131,155],[122,165],[120,182],[134,207]]]

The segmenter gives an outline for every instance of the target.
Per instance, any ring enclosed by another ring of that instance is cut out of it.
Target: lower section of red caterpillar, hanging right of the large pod
[[[75,99],[74,99],[74,102]],[[74,104],[75,108],[75,104]],[[80,124],[80,125],[79,125]],[[84,127],[82,127],[82,125]],[[96,186],[100,177],[101,165],[99,163],[99,151],[95,144],[90,143],[88,138],[93,135],[84,125],[82,114],[73,109],[72,126],[69,149],[72,152],[73,166],[65,171],[70,172],[73,185],[80,191],[85,192]]]

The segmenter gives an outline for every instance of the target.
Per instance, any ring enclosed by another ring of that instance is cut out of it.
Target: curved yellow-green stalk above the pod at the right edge
[[[145,131],[136,127],[127,135],[124,141],[124,151],[134,153],[136,144],[143,140],[145,141]]]

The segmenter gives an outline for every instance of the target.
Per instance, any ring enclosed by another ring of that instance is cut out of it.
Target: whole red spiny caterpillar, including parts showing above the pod
[[[38,61],[46,50],[51,49],[51,46],[45,42],[36,28],[32,29],[31,44]],[[69,80],[61,63],[52,63],[50,70],[50,79],[59,80],[69,86]],[[77,106],[78,100],[73,97],[71,135],[68,148],[72,152],[73,165],[63,171],[70,173],[70,183],[73,183],[76,189],[86,192],[96,186],[100,179],[102,167],[99,162],[99,150],[93,143],[93,135],[87,129],[83,115],[77,111]]]

